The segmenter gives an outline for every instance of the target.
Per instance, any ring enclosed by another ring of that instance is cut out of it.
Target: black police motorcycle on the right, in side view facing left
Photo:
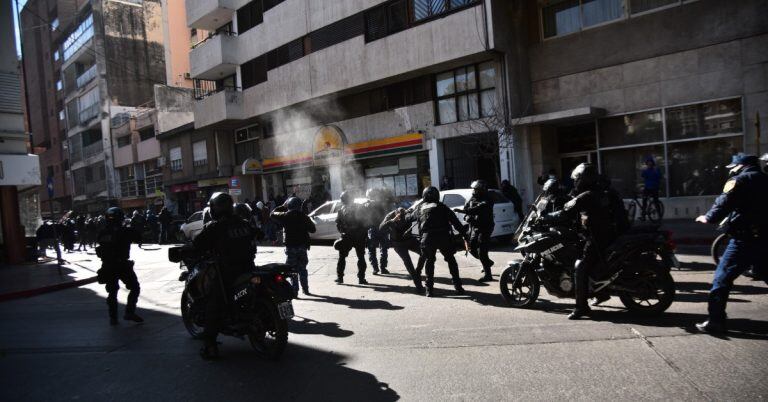
[[[511,307],[533,306],[541,285],[555,297],[575,298],[574,266],[587,237],[573,223],[540,223],[540,217],[552,212],[550,202],[537,198],[517,233],[515,251],[523,259],[510,262],[499,279],[501,295]],[[642,315],[660,314],[672,304],[670,268],[677,259],[668,232],[656,226],[632,228],[605,251],[603,260],[589,278],[589,297],[618,296],[629,311]]]

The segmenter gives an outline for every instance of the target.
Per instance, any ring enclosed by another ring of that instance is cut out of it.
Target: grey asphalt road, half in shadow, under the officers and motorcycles
[[[703,250],[694,250],[703,251]],[[495,274],[513,258],[496,251]],[[95,256],[93,256],[95,259]],[[533,309],[504,305],[483,286],[478,261],[458,256],[467,295],[452,295],[439,261],[439,297],[412,292],[399,258],[390,276],[359,286],[354,261],[333,283],[329,246],[310,251],[314,296],[295,301],[289,347],[278,362],[222,337],[222,359],[202,361],[179,317],[178,267],[165,248],[133,258],[146,322],[107,325],[98,284],[0,303],[0,400],[758,400],[768,397],[768,288],[741,278],[727,337],[696,334],[712,265],[679,254],[677,298],[653,319],[617,300],[594,320],[568,321],[571,300],[543,292]],[[262,247],[257,263],[283,261]],[[83,261],[95,266],[96,261]],[[125,301],[121,292],[120,300]]]

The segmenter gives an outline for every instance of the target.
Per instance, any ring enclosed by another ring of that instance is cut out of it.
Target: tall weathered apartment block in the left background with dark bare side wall
[[[22,10],[33,143],[54,189],[41,190],[48,214],[119,204],[112,121],[165,82],[161,11],[160,0],[29,0]]]

